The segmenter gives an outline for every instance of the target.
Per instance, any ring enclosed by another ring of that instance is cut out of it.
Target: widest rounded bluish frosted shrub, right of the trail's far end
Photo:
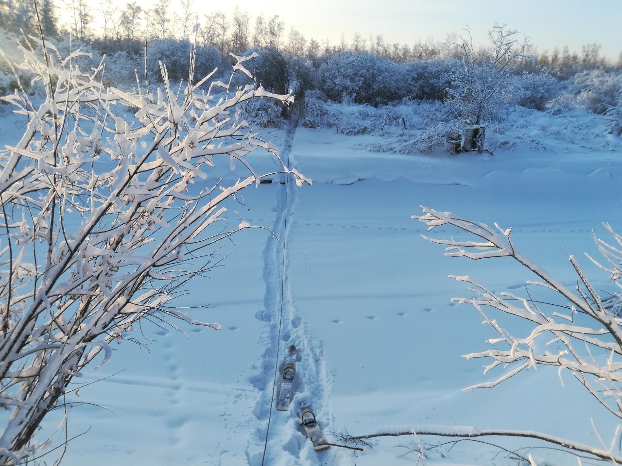
[[[351,96],[354,103],[374,107],[408,95],[406,66],[371,53],[335,53],[320,67],[320,90],[333,101]]]

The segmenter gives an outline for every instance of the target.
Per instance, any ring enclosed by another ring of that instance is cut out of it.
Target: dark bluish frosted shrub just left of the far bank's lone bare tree
[[[422,60],[408,63],[411,78],[409,95],[417,100],[439,100],[447,97],[447,88],[452,85],[453,71],[460,60]]]

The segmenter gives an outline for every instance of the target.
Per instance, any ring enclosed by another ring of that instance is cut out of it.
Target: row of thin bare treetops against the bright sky
[[[210,11],[200,14],[193,0],[157,0],[144,8],[136,1],[122,8],[113,0],[103,0],[96,8],[85,0],[39,0],[39,18],[46,37],[59,38],[72,34],[101,53],[125,51],[140,53],[145,43],[157,40],[177,40],[215,48],[221,57],[230,52],[242,53],[249,48],[277,49],[290,57],[325,60],[334,53],[371,53],[393,62],[447,60],[460,58],[462,52],[455,44],[460,38],[454,32],[445,39],[408,43],[390,42],[382,34],[364,35],[355,32],[351,40],[341,35],[337,43],[329,39],[307,39],[294,27],[285,27],[278,15],[252,17],[248,11],[234,7],[233,12]],[[64,21],[60,21],[60,17]],[[95,19],[98,18],[98,21]],[[0,0],[0,27],[19,34],[20,30],[37,31],[37,14],[32,0]],[[595,68],[622,67],[622,52],[616,63],[600,55],[600,45],[583,45],[580,52],[568,47],[539,52],[529,47],[536,57],[529,68],[545,68],[558,78],[567,79],[577,71]],[[524,71],[524,70],[521,70]]]

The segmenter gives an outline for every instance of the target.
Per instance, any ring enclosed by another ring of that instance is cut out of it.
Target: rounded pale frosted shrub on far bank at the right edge
[[[579,106],[602,115],[621,104],[622,74],[603,70],[583,71],[573,77],[569,90],[577,96]]]

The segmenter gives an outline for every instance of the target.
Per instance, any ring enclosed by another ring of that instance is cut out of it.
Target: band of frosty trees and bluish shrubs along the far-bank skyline
[[[258,84],[277,93],[291,89],[297,99],[313,91],[325,101],[374,107],[404,99],[445,101],[456,70],[463,66],[460,43],[465,34],[468,39],[465,31],[437,42],[389,43],[383,35],[356,33],[331,43],[304,37],[276,15],[251,17],[238,7],[203,13],[192,0],[158,0],[149,9],[136,2],[119,9],[111,0],[103,0],[97,9],[84,0],[38,0],[38,11],[34,5],[30,0],[0,0],[2,94],[17,88],[15,75],[20,73],[9,63],[19,62],[19,53],[7,44],[41,31],[62,53],[78,48],[90,52],[91,60],[80,58],[87,69],[106,55],[104,84],[121,88],[136,87],[137,79],[161,81],[159,61],[167,65],[169,78],[187,80],[195,47],[199,78],[214,68],[220,70],[217,76],[228,76],[230,53],[258,52],[259,58],[248,66]],[[595,43],[578,52],[568,47],[540,52],[536,45],[527,44],[526,56],[513,66],[516,79],[506,91],[508,101],[539,110],[572,104],[598,114],[619,106],[622,52],[614,62],[601,56]],[[490,62],[492,48],[482,44],[476,50],[478,62]]]

